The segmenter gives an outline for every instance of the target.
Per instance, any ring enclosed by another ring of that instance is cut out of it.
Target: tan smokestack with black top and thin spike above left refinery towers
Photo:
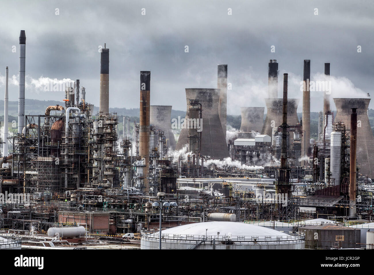
[[[109,113],[109,49],[104,44],[100,55],[100,112]]]

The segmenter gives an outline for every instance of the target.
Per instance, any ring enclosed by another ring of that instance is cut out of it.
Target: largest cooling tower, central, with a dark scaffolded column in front
[[[218,101],[220,89],[186,89],[187,112],[190,99],[198,100],[202,104],[202,137],[200,152],[203,156],[212,159],[224,159],[229,157],[226,146],[226,138],[223,133],[220,116],[218,115]],[[188,129],[181,129],[176,150],[182,149],[186,144]]]

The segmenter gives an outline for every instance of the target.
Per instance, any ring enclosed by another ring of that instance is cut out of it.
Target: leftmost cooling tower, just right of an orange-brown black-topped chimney
[[[175,138],[171,129],[171,107],[164,105],[151,105],[150,123],[156,126],[156,130],[164,131],[169,149],[175,149]]]

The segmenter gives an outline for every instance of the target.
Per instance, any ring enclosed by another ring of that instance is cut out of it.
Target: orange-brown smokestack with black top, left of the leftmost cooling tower
[[[150,87],[151,72],[140,72],[140,122],[139,122],[139,155],[145,159],[143,168],[143,191],[149,193],[149,124],[150,124]]]

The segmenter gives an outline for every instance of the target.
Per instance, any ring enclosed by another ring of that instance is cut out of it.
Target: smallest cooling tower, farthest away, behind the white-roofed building
[[[240,107],[242,124],[240,132],[261,132],[264,125],[264,107]]]

